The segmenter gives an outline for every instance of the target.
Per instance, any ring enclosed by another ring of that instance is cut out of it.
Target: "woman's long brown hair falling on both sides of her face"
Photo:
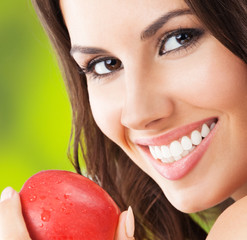
[[[185,0],[211,33],[247,63],[246,0]],[[98,182],[121,210],[132,206],[136,239],[199,240],[206,233],[189,215],[176,210],[158,185],[97,127],[89,106],[86,78],[70,56],[70,38],[58,0],[33,0],[37,13],[57,51],[65,76],[73,128],[71,161],[81,173],[80,153],[87,175]]]

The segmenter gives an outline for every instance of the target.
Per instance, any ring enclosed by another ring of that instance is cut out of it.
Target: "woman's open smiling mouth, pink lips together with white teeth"
[[[217,118],[204,119],[136,143],[165,178],[177,180],[189,173],[207,150],[218,128]]]

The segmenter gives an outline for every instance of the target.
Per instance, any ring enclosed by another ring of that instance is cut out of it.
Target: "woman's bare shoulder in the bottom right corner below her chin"
[[[247,196],[228,207],[216,220],[207,240],[247,239]]]

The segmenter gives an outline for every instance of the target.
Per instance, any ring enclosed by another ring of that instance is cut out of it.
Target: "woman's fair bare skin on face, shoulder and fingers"
[[[72,46],[104,49],[97,54],[74,50],[78,65],[84,68],[99,57],[122,62],[122,68],[104,77],[87,73],[92,112],[104,134],[183,212],[205,210],[229,197],[242,198],[219,217],[208,239],[246,239],[246,65],[193,15],[173,18],[151,38],[140,39],[143,29],[160,16],[187,8],[181,0],[131,0],[131,4],[126,0],[61,0],[61,8]],[[179,28],[205,32],[186,49],[159,56],[158,40]],[[135,144],[138,138],[155,137],[215,116],[218,130],[208,150],[179,180],[161,176]],[[0,203],[1,239],[6,232],[18,236],[10,227],[14,225],[27,234],[20,208],[18,194]],[[6,211],[11,214],[5,219]],[[132,239],[126,226],[132,232],[133,219],[128,222],[126,216],[124,212],[120,217],[116,239]],[[14,236],[11,239],[20,239]]]

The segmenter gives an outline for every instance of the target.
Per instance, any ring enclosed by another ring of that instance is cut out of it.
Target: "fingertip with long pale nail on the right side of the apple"
[[[134,240],[135,220],[132,208],[121,213],[115,240]]]

